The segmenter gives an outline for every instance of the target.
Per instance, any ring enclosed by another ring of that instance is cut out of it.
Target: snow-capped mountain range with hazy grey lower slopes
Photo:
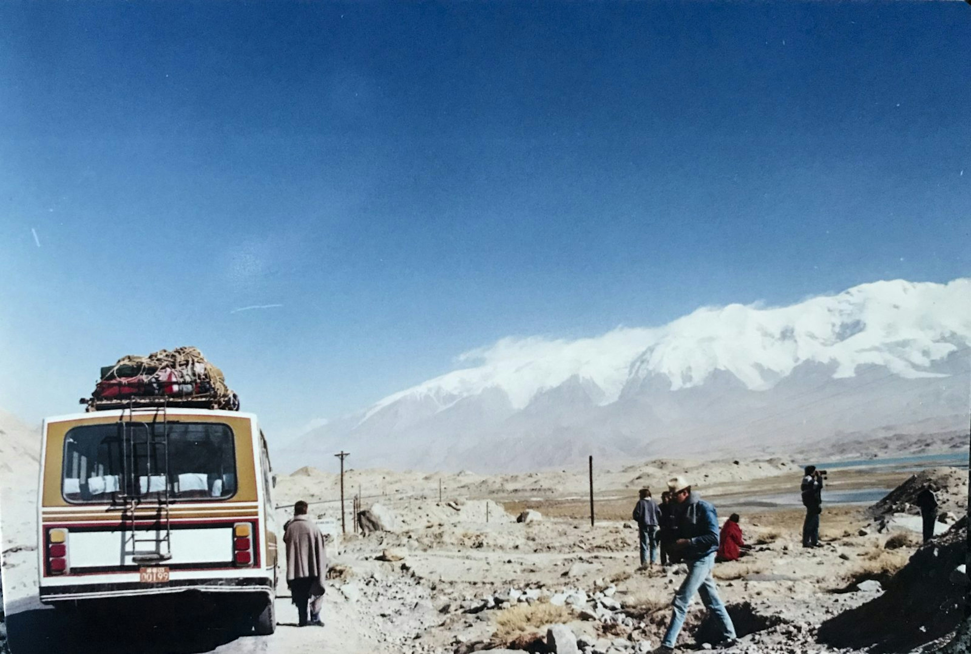
[[[504,338],[282,454],[305,465],[352,447],[356,465],[526,469],[960,423],[969,345],[971,279],[703,307],[577,340]]]

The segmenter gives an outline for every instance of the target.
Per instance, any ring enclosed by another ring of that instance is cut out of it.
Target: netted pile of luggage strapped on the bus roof
[[[88,411],[163,405],[240,408],[239,397],[226,386],[222,371],[192,347],[122,357],[115,365],[101,368],[94,393],[81,401]]]

